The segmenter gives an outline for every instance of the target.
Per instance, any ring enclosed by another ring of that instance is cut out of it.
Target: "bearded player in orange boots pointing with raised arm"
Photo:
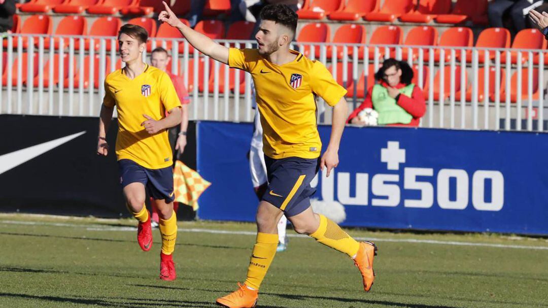
[[[312,212],[310,182],[318,167],[329,176],[339,163],[339,143],[348,107],[346,90],[333,79],[326,67],[290,50],[295,36],[297,15],[283,4],[266,5],[255,39],[257,49],[226,48],[185,26],[165,4],[158,19],[177,27],[193,47],[231,67],[251,73],[261,114],[265,163],[269,186],[256,214],[257,237],[250,258],[247,279],[239,288],[217,303],[226,307],[254,307],[258,291],[278,243],[277,223],[282,214],[296,232],[352,258],[369,291],[374,280],[372,242],[358,243],[336,223]],[[316,127],[316,102],[321,96],[333,106],[333,128],[326,152],[320,158],[321,141]],[[319,164],[319,166],[318,166]]]

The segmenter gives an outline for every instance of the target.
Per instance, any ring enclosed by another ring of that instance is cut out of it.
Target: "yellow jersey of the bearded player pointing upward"
[[[251,73],[261,114],[263,151],[270,158],[317,158],[322,150],[316,126],[319,95],[336,105],[346,90],[319,61],[290,50],[295,60],[276,65],[257,49],[230,48],[229,65]]]

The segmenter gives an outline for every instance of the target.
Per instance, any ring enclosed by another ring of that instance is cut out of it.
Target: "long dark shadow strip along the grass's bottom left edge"
[[[30,295],[20,293],[0,292],[0,297],[19,298],[35,301],[54,301],[56,303],[71,303],[78,306],[102,306],[102,307],[124,307],[124,308],[147,308],[147,307],[192,307],[192,308],[210,308],[214,304],[206,301],[187,301],[187,300],[163,300],[163,299],[137,299],[137,298],[81,298],[78,296],[48,296],[48,295]],[[38,306],[38,305],[37,305]]]

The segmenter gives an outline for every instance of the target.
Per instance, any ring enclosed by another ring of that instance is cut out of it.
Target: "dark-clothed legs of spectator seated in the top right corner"
[[[504,27],[503,15],[508,12],[516,32],[519,32],[527,28],[523,9],[538,2],[543,2],[543,0],[494,0],[489,3],[489,7],[487,8],[489,26]]]

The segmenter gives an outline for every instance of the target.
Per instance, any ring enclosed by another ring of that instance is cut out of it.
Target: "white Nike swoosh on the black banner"
[[[44,142],[42,144],[26,147],[25,149],[17,150],[15,152],[4,154],[0,156],[0,174],[8,171],[9,169],[15,168],[24,162],[30,161],[32,158],[40,156],[43,153],[49,150],[52,150],[55,147],[58,147],[83,134],[85,134],[85,130],[83,132],[68,135],[59,139],[55,139],[52,141]]]

